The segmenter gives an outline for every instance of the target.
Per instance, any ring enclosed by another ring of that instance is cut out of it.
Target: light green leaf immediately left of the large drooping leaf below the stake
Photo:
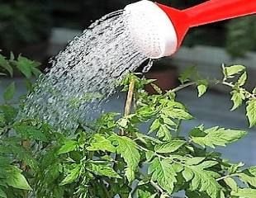
[[[109,151],[111,153],[116,152],[116,148],[111,144],[111,141],[106,139],[101,134],[94,134],[92,143],[87,148],[89,151]]]

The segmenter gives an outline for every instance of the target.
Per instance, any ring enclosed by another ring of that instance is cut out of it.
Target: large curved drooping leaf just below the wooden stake
[[[137,144],[135,144],[135,142],[128,137],[119,136],[116,134],[112,134],[108,139],[113,142],[112,144],[117,143],[116,152],[121,154],[121,157],[124,158],[127,167],[135,172],[140,163],[140,153],[137,148]],[[130,181],[134,180],[134,178],[130,177],[129,179]]]

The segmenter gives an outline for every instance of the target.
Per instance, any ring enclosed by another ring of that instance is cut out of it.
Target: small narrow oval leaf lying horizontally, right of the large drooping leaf
[[[155,145],[154,151],[157,153],[172,153],[182,147],[185,143],[186,141],[184,140],[171,140],[168,143]]]

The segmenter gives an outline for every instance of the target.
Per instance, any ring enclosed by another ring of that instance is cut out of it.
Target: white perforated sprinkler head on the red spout
[[[159,59],[175,53],[176,31],[157,4],[148,0],[131,3],[125,7],[124,15],[131,40],[142,54]]]

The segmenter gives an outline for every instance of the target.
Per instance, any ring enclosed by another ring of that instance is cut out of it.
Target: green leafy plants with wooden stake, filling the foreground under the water
[[[21,56],[2,57],[0,63],[3,72],[12,75],[9,66],[17,67],[26,78],[37,74],[37,65]],[[181,85],[167,92],[154,80],[130,74],[121,82],[130,101],[126,114],[104,114],[73,133],[19,118],[11,84],[0,106],[0,197],[164,198],[178,191],[189,198],[256,197],[256,167],[230,163],[215,150],[241,139],[245,131],[199,125],[180,134],[182,122],[193,116],[176,93],[195,85],[201,97],[212,82],[231,88],[232,110],[246,102],[249,125],[256,125],[256,89],[244,89],[244,66],[223,66],[223,74],[222,80],[211,81],[188,68]],[[159,94],[145,92],[149,83]],[[140,130],[145,124],[149,131]]]

